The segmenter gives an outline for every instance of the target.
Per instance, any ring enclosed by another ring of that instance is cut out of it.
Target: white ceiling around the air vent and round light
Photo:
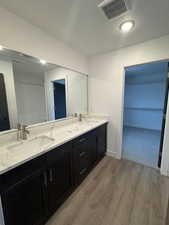
[[[169,33],[169,0],[130,0],[132,10],[108,20],[101,0],[0,0],[14,12],[84,54],[92,55],[158,38]],[[135,29],[122,34],[119,24],[134,19]]]

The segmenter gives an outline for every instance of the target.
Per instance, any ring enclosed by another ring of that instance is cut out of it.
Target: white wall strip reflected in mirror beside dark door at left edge
[[[10,128],[16,128],[18,120],[12,62],[0,60],[0,73],[4,75]]]

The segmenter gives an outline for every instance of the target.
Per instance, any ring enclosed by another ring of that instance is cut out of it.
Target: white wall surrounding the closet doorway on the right
[[[169,36],[147,41],[89,60],[89,111],[110,117],[108,151],[121,158],[124,67],[169,59]],[[162,173],[169,171],[169,110],[165,129]]]

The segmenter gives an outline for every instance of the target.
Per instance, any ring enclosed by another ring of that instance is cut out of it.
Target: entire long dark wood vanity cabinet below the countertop
[[[5,225],[44,225],[106,152],[104,124],[0,176]]]

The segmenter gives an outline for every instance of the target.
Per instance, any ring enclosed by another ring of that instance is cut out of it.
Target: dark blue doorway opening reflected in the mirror
[[[66,117],[65,79],[53,81],[55,120]]]

